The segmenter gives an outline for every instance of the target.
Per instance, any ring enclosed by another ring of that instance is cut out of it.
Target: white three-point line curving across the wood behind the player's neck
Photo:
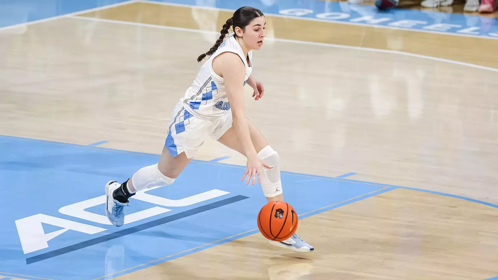
[[[186,32],[194,32],[194,33],[204,33],[204,34],[219,34],[220,33],[218,31],[190,29],[190,28],[164,26],[164,25],[155,25],[155,24],[148,24],[148,23],[131,22],[131,21],[121,21],[121,20],[104,19],[104,18],[96,18],[96,17],[86,17],[86,16],[78,16],[78,15],[73,15],[73,16],[70,16],[69,18],[82,19],[82,20],[90,20],[90,21],[101,21],[101,22],[124,24],[124,25],[132,25],[132,26],[152,27],[152,28],[158,28],[158,29],[169,29],[169,30],[186,31]],[[486,66],[476,65],[476,64],[467,63],[467,62],[461,62],[461,61],[456,61],[456,60],[438,58],[438,57],[433,57],[433,56],[426,56],[426,55],[409,53],[409,52],[395,51],[395,50],[384,50],[384,49],[374,49],[374,48],[366,48],[366,47],[345,46],[345,45],[336,45],[336,44],[328,44],[328,43],[318,43],[318,42],[309,42],[309,41],[288,40],[288,39],[280,39],[280,38],[271,38],[271,39],[268,38],[266,40],[273,40],[273,41],[277,41],[277,42],[286,42],[286,43],[297,43],[297,44],[306,44],[306,45],[326,46],[326,47],[343,48],[343,49],[354,49],[354,50],[382,52],[382,53],[390,53],[390,54],[400,54],[400,55],[406,55],[406,56],[418,57],[418,58],[425,58],[425,59],[429,59],[429,60],[442,61],[442,62],[457,64],[457,65],[462,65],[462,66],[468,66],[468,67],[473,67],[473,68],[478,68],[478,69],[483,69],[483,70],[498,72],[498,69],[492,68],[492,67],[486,67]]]

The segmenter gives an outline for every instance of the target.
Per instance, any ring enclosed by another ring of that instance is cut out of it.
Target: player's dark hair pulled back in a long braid
[[[218,40],[216,40],[216,43],[213,45],[213,47],[211,47],[211,49],[208,52],[203,53],[203,54],[199,55],[199,57],[197,57],[197,62],[200,62],[206,56],[212,55],[213,53],[215,53],[215,51],[220,47],[221,43],[223,42],[223,40],[227,36],[228,30],[230,29],[230,26],[232,26],[232,30],[234,32],[235,32],[235,27],[237,27],[237,26],[239,26],[242,30],[244,30],[244,28],[246,28],[246,26],[254,18],[260,17],[260,16],[263,16],[263,13],[260,10],[253,8],[253,7],[245,6],[245,7],[241,7],[238,10],[236,10],[234,12],[234,15],[231,18],[227,19],[227,22],[225,24],[223,24],[223,29],[221,29],[221,31],[220,31],[220,33],[221,33],[220,38],[218,38]]]

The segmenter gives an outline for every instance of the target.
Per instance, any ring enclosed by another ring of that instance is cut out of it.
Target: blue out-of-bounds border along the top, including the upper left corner
[[[0,28],[124,2],[136,1],[0,0]],[[323,0],[149,0],[148,2],[230,10],[235,10],[243,5],[250,5],[259,8],[265,14],[279,14],[295,18],[498,38],[498,21],[496,18],[477,14],[454,14],[401,8],[379,11],[373,5],[355,5],[347,1],[329,2]]]

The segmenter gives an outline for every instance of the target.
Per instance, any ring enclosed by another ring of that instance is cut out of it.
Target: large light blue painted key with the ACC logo
[[[105,183],[122,182],[158,158],[0,137],[0,271],[45,279],[96,279],[258,232],[256,216],[266,203],[260,186],[241,182],[242,166],[198,160],[173,185],[133,196],[125,208],[130,220],[123,227],[109,225],[103,216]],[[282,172],[282,182],[285,200],[305,214],[301,218],[389,189],[288,172]]]

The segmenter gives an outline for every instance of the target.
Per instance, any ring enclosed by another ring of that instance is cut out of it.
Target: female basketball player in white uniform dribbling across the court
[[[159,162],[141,168],[123,184],[106,184],[106,216],[111,223],[118,227],[124,224],[123,207],[135,192],[172,184],[207,137],[247,157],[242,180],[247,177],[246,183],[254,184],[257,175],[268,202],[283,200],[278,153],[245,116],[244,85],[254,89],[255,100],[264,94],[261,83],[250,75],[252,50],[263,44],[264,25],[260,10],[239,8],[223,25],[214,46],[197,58],[200,62],[210,55],[173,110]],[[234,34],[224,40],[231,26]],[[296,234],[271,243],[300,253],[314,250]]]

